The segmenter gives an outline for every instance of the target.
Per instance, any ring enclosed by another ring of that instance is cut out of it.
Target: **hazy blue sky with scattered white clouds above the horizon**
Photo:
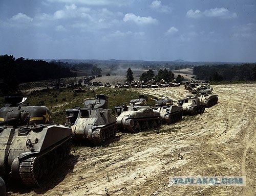
[[[0,0],[0,55],[256,62],[255,0]]]

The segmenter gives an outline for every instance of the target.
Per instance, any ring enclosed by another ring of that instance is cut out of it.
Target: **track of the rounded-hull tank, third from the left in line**
[[[162,125],[162,118],[129,118],[125,120],[125,128],[131,133],[157,129]]]

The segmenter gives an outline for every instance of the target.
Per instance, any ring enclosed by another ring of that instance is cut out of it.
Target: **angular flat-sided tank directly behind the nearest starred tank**
[[[86,144],[102,145],[116,135],[116,117],[108,109],[108,96],[84,101],[84,108],[66,110],[72,139]]]

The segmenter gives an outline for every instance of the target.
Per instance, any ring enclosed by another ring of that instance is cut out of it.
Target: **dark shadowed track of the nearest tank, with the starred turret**
[[[38,156],[19,163],[19,176],[29,187],[40,187],[61,161],[70,154],[71,139],[67,138]]]

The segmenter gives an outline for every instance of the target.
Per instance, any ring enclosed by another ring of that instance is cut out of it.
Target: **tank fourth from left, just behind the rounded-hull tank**
[[[155,106],[154,111],[161,114],[163,122],[167,125],[182,119],[182,107],[174,105],[171,99],[157,100]]]

